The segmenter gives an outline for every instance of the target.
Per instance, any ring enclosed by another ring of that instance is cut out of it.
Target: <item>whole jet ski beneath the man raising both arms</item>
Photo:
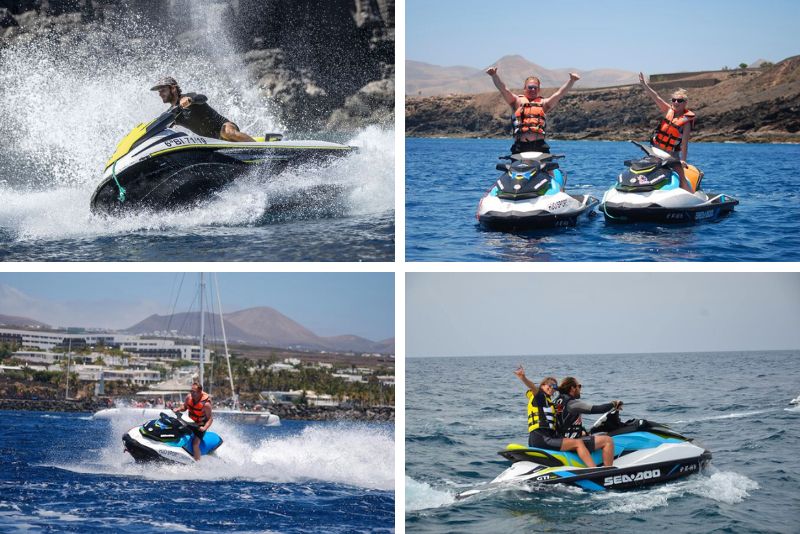
[[[563,157],[522,152],[501,158],[511,163],[497,164],[503,174],[478,204],[480,225],[503,231],[575,226],[597,199],[563,191],[566,178],[555,161]]]

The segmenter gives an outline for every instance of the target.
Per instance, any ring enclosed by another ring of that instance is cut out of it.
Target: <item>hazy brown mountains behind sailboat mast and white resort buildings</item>
[[[225,334],[231,343],[341,352],[394,353],[394,340],[375,342],[353,335],[318,336],[300,323],[269,307],[248,308],[227,313]],[[197,337],[200,332],[198,312],[173,316],[151,315],[125,330],[131,334],[154,334],[176,331],[179,335]],[[205,314],[206,338],[221,338],[219,316]]]

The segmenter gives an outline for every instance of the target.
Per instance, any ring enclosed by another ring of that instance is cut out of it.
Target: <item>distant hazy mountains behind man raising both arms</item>
[[[498,73],[509,89],[519,88],[528,76],[538,76],[542,87],[560,87],[577,72],[581,80],[577,87],[609,87],[634,83],[637,73],[616,69],[547,69],[522,56],[504,56],[497,60]],[[489,65],[487,65],[488,67]],[[429,63],[406,60],[406,94],[433,96],[474,94],[494,91],[491,78],[482,69],[473,67],[440,67]]]

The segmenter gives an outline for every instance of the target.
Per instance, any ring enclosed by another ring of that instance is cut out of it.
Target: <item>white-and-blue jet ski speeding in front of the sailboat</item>
[[[130,429],[122,436],[125,450],[137,462],[193,464],[192,436],[194,422],[162,412],[158,419]],[[206,431],[200,442],[200,454],[213,454],[222,445],[222,438]]]

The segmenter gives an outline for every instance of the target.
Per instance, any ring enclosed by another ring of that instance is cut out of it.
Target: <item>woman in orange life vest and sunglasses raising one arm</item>
[[[653,99],[664,118],[656,127],[650,144],[669,153],[672,157],[680,160],[680,165],[675,165],[675,172],[680,178],[681,189],[694,193],[695,187],[686,179],[684,168],[689,168],[686,163],[689,151],[689,136],[692,133],[692,126],[696,115],[687,108],[688,94],[685,89],[677,89],[672,93],[672,105],[667,104],[644,79],[644,74],[639,73],[639,83],[644,87],[647,96]],[[692,168],[692,172],[697,172]]]

